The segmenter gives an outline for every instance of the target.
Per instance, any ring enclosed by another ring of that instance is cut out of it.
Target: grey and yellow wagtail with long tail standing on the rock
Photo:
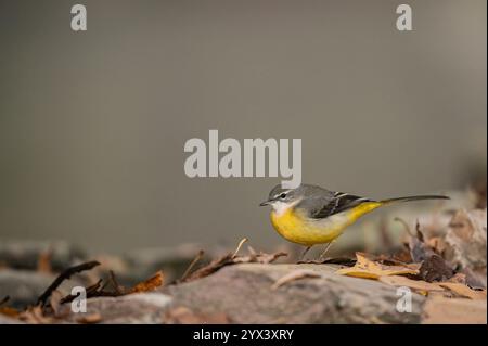
[[[271,223],[277,232],[290,242],[305,245],[300,260],[318,244],[332,242],[361,216],[397,202],[422,200],[449,200],[442,195],[416,195],[374,201],[349,193],[334,192],[321,187],[301,184],[296,189],[283,189],[280,184],[269,193],[260,206],[271,205]]]

